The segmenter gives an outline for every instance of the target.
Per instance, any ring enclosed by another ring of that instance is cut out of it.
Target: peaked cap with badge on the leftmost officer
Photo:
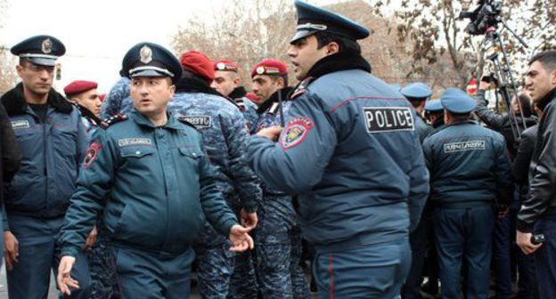
[[[53,67],[58,57],[66,53],[66,47],[54,36],[31,36],[12,46],[10,52],[33,64]]]

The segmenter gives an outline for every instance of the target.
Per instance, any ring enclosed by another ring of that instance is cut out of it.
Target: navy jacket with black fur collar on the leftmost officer
[[[87,147],[78,109],[52,90],[45,123],[41,124],[25,102],[22,85],[5,93],[1,101],[23,154],[20,171],[6,186],[6,212],[45,218],[63,216],[70,206]]]

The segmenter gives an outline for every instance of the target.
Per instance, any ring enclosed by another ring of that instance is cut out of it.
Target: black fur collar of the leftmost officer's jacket
[[[5,93],[1,100],[8,115],[24,114],[27,109],[27,102],[23,94],[23,84],[18,84],[12,90]],[[57,93],[53,88],[48,92],[48,99],[46,100],[48,106],[56,109],[61,113],[71,113],[73,106],[70,101],[66,100],[60,93]]]

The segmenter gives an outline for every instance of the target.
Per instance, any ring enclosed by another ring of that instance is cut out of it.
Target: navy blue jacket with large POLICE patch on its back
[[[299,195],[303,233],[317,246],[407,238],[429,194],[411,104],[362,69],[307,82],[291,96],[278,143],[251,137],[255,172]]]

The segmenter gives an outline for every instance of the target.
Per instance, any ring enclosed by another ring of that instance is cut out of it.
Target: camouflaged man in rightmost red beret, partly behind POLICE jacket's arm
[[[292,90],[286,65],[282,61],[263,60],[251,70],[251,78],[253,93],[260,98],[258,120],[251,133],[281,125],[291,106],[286,101]],[[299,266],[303,248],[292,198],[281,190],[262,186],[260,224],[255,230],[260,292],[271,298],[309,298],[307,281]]]

